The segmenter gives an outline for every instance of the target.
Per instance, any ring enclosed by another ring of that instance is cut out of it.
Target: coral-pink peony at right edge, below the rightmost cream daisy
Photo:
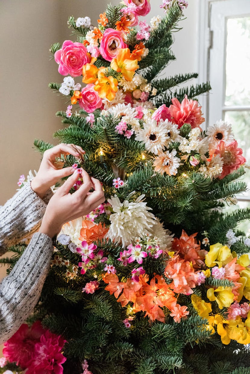
[[[219,179],[223,179],[246,162],[245,157],[242,156],[242,149],[237,147],[238,143],[236,140],[227,145],[223,140],[220,141],[218,149],[214,152],[214,154],[219,154],[223,159],[222,174]]]

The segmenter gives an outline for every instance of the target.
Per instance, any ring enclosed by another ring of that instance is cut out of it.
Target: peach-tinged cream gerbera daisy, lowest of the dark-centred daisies
[[[155,171],[160,174],[176,175],[177,169],[180,166],[180,159],[176,156],[176,150],[173,149],[171,152],[159,152],[158,157],[155,158],[153,166]]]

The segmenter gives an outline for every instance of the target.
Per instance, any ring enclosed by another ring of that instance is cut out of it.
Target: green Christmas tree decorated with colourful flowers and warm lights
[[[79,170],[75,190],[84,168],[107,200],[63,226],[40,301],[20,328],[39,331],[47,347],[53,334],[54,367],[25,366],[18,331],[5,352],[21,364],[0,373],[249,373],[250,239],[237,224],[250,210],[223,211],[246,189],[238,180],[246,160],[229,124],[201,128],[197,97],[209,83],[178,88],[197,74],[159,78],[175,58],[172,34],[186,6],[164,0],[148,25],[139,17],[149,0],[124,0],[98,27],[71,16],[76,41],[51,46],[65,77],[50,87],[71,101],[54,137],[85,150],[58,161]]]

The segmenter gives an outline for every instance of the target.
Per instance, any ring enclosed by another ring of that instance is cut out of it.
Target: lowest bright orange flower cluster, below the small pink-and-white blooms
[[[110,295],[114,294],[118,303],[124,307],[129,302],[133,304],[133,312],[146,312],[151,321],[165,322],[163,307],[171,311],[175,322],[189,314],[186,306],[177,304],[174,292],[160,275],[155,275],[149,282],[148,275],[140,275],[139,282],[128,279],[126,282],[119,282],[116,274],[105,274],[103,281],[107,283],[106,290]],[[148,283],[149,282],[149,283]]]

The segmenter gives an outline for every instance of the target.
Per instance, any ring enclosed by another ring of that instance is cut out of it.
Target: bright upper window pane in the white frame
[[[225,105],[250,105],[250,16],[227,19]]]

